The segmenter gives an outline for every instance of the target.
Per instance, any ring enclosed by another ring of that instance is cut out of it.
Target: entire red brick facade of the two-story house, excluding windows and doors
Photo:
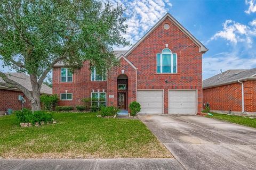
[[[165,23],[170,24],[170,29],[163,29]],[[172,53],[177,53],[177,74],[156,74],[156,54],[161,53],[168,44]],[[168,112],[168,90],[169,89],[195,89],[198,91],[197,110],[202,111],[202,53],[199,47],[176,27],[169,19],[163,21],[150,35],[144,39],[128,56],[126,56],[137,68],[136,70],[123,58],[121,65],[114,67],[109,73],[108,82],[91,82],[89,63],[74,75],[73,83],[60,83],[60,68],[53,69],[53,94],[61,92],[73,92],[73,101],[60,101],[59,105],[78,105],[79,100],[90,97],[92,89],[107,89],[109,95],[108,105],[117,105],[117,77],[125,70],[128,76],[128,105],[136,100],[138,89],[164,89],[164,112]],[[138,86],[136,82],[138,79]],[[168,83],[165,83],[168,80]],[[133,94],[135,91],[135,94]]]

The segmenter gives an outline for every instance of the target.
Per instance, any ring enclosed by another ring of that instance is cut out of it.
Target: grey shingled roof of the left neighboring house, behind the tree
[[[30,83],[30,77],[27,74],[24,74],[24,73],[5,73],[5,74],[9,79],[15,82],[18,82],[29,91],[33,91]],[[0,82],[5,82],[5,81],[2,78],[0,78]],[[20,91],[19,89],[16,89],[16,88],[8,88],[4,86],[0,86],[0,89]],[[50,88],[49,86],[46,86],[45,84],[42,84],[41,94],[52,95],[52,88]]]

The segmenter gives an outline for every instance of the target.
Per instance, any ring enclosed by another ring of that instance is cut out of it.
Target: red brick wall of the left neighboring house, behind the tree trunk
[[[27,100],[24,107],[31,108],[28,98],[20,91],[12,91],[0,89],[0,111],[6,111],[11,108],[13,111],[18,111],[22,108],[21,101],[18,101],[18,96],[22,95]]]

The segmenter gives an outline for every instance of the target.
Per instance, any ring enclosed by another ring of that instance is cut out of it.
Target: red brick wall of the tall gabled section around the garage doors
[[[169,30],[163,29],[165,23],[170,24]],[[165,44],[172,53],[177,53],[177,74],[156,73],[156,54],[162,53]],[[127,58],[138,67],[138,89],[164,89],[165,113],[168,113],[168,89],[197,89],[197,110],[202,111],[202,53],[169,19],[151,32]]]

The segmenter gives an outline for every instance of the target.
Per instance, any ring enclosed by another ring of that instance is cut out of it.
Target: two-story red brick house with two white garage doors
[[[120,64],[107,78],[90,71],[89,61],[74,74],[58,63],[53,69],[53,94],[59,105],[116,106],[129,110],[132,101],[140,113],[196,114],[202,111],[202,54],[208,49],[167,13],[127,51],[115,51]]]

